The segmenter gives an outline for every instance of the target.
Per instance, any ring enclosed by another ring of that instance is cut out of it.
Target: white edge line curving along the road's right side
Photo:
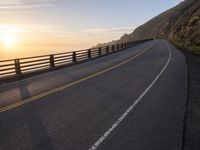
[[[166,43],[167,44],[167,43]],[[113,130],[122,122],[127,115],[133,110],[133,108],[140,102],[140,100],[147,94],[147,92],[152,88],[152,86],[156,83],[156,81],[160,78],[160,76],[163,74],[163,72],[166,70],[166,68],[169,65],[169,62],[171,60],[172,54],[171,49],[169,47],[169,44],[167,44],[168,51],[169,51],[169,58],[167,60],[167,63],[161,70],[161,72],[156,76],[156,78],[153,80],[153,82],[146,88],[146,90],[137,98],[136,101],[119,117],[119,119],[103,134],[102,137],[100,137],[90,148],[89,150],[96,150],[99,145],[113,132]]]

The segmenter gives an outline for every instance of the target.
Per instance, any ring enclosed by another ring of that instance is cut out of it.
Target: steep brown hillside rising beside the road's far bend
[[[200,45],[200,1],[185,0],[144,25],[120,41],[165,38],[185,47]]]

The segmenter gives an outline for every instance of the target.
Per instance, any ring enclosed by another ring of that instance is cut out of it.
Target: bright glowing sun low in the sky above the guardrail
[[[5,47],[13,47],[17,39],[14,34],[6,33],[1,36],[1,42]]]

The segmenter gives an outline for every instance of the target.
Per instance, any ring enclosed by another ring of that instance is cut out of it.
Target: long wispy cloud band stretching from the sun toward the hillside
[[[44,33],[57,38],[90,38],[102,36],[120,37],[124,33],[130,33],[134,27],[109,27],[109,28],[89,28],[79,31],[71,31],[65,27],[57,25],[41,25],[41,24],[2,24],[0,25],[0,33]]]

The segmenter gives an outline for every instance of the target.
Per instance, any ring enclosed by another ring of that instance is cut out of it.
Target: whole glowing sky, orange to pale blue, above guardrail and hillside
[[[181,0],[0,0],[0,60],[88,48]]]

